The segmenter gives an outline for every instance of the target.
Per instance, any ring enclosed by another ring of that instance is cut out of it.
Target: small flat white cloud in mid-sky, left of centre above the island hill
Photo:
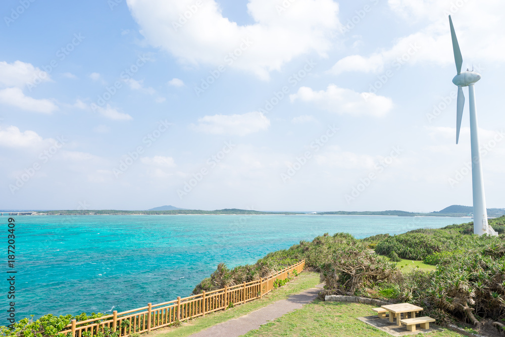
[[[198,118],[197,125],[191,126],[204,133],[244,136],[268,129],[270,120],[261,112],[249,112],[242,115],[204,116]]]

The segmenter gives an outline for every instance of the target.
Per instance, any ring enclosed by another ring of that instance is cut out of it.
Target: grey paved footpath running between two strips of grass
[[[287,300],[281,300],[269,304],[266,307],[251,312],[245,316],[230,319],[226,322],[216,324],[194,333],[192,337],[238,337],[244,333],[254,330],[269,321],[281,317],[295,309],[300,309],[307,303],[314,301],[321,291],[322,284],[317,288],[311,288],[296,295],[291,295]]]

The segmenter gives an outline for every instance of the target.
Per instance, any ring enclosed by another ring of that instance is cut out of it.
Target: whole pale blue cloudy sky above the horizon
[[[482,74],[487,206],[505,207],[504,10],[470,0],[4,1],[0,208],[472,205],[448,14],[463,67]]]

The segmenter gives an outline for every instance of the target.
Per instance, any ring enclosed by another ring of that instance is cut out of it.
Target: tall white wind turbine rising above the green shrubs
[[[456,38],[454,26],[449,15],[450,36],[452,38],[452,50],[456,62],[458,75],[452,79],[452,83],[458,86],[458,99],[456,110],[456,143],[460,138],[461,118],[463,117],[463,107],[465,106],[465,96],[463,87],[468,86],[468,95],[470,98],[470,140],[472,148],[472,190],[473,190],[473,214],[474,214],[474,234],[497,235],[491,226],[487,223],[486,197],[484,195],[484,178],[482,176],[482,162],[479,151],[479,135],[477,125],[477,113],[475,105],[475,86],[480,80],[480,74],[473,71],[461,72],[463,58],[461,56],[460,45]]]

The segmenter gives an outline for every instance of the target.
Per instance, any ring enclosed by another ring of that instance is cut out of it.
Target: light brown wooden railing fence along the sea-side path
[[[159,329],[208,313],[226,310],[230,304],[244,304],[246,302],[261,299],[263,295],[270,293],[274,288],[275,280],[284,280],[293,274],[293,271],[301,272],[305,267],[305,260],[282,269],[267,278],[256,281],[243,282],[229,287],[224,287],[212,292],[202,292],[177,300],[137,308],[112,315],[88,319],[72,323],[58,333],[65,333],[67,337],[92,337],[107,332],[119,331],[118,337],[128,337],[132,333],[142,333]],[[63,337],[63,336],[62,336]]]

